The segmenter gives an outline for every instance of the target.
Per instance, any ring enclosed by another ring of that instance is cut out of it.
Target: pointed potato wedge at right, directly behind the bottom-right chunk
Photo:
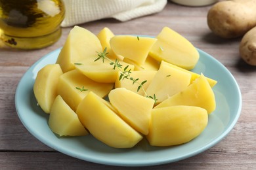
[[[201,75],[188,88],[169,97],[155,108],[174,105],[202,107],[210,114],[216,108],[215,94],[205,76]]]

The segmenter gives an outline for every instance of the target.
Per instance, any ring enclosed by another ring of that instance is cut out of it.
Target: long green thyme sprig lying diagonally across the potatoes
[[[110,58],[107,57],[108,52],[106,52],[107,48],[104,48],[103,52],[96,52],[98,54],[98,58],[95,59],[95,61],[98,61],[99,59],[102,59],[102,62],[104,63],[105,59],[108,60],[110,62],[110,65],[113,65],[113,69],[116,70],[118,69],[121,73],[119,75],[119,80],[123,80],[123,79],[129,79],[133,82],[133,84],[138,84],[138,88],[137,88],[137,92],[139,92],[139,90],[141,89],[146,97],[153,99],[155,101],[158,101],[158,99],[156,98],[156,95],[154,94],[153,96],[148,95],[146,93],[146,90],[144,89],[143,85],[147,82],[147,80],[144,80],[142,82],[139,82],[139,78],[133,78],[131,76],[131,69],[129,69],[129,65],[127,65],[124,69],[123,69],[123,65],[120,63],[120,61],[118,59],[116,59],[115,61],[112,61]]]

